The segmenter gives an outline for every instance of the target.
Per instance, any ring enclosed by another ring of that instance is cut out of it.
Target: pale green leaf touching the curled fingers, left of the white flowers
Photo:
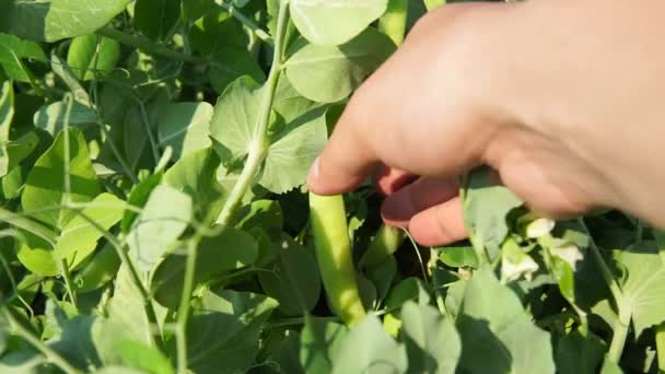
[[[464,221],[474,246],[485,248],[489,259],[493,260],[509,233],[508,213],[523,202],[508,188],[492,184],[490,173],[487,167],[469,173],[463,208]]]

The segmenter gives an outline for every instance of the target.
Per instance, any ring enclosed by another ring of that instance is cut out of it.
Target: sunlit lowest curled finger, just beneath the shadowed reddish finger
[[[424,246],[446,245],[468,236],[458,197],[413,215],[409,223],[413,239]]]

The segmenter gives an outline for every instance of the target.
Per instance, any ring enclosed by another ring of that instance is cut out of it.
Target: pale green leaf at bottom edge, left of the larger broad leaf
[[[407,373],[455,373],[462,342],[455,325],[434,307],[407,302],[401,307]]]

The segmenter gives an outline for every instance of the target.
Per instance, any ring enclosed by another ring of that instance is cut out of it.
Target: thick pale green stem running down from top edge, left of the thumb
[[[254,140],[249,147],[249,153],[245,167],[241,173],[237,182],[233,186],[226,203],[220,213],[218,223],[221,225],[229,225],[233,220],[233,215],[240,208],[243,201],[243,197],[247,194],[247,190],[252,187],[255,175],[258,173],[264,159],[268,153],[268,124],[270,121],[270,112],[272,110],[272,103],[275,101],[275,91],[277,90],[277,82],[282,70],[283,63],[283,43],[287,34],[287,26],[289,25],[289,1],[282,0],[279,8],[279,15],[277,21],[277,34],[275,38],[275,50],[272,52],[272,66],[270,67],[270,74],[268,74],[268,81],[262,87],[264,98],[259,113],[257,116],[258,126],[256,126],[256,132],[254,133]]]

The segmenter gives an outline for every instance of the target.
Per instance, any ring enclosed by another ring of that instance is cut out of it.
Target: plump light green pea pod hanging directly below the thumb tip
[[[365,309],[355,281],[343,198],[310,192],[310,214],[328,302],[345,324],[353,325]]]

